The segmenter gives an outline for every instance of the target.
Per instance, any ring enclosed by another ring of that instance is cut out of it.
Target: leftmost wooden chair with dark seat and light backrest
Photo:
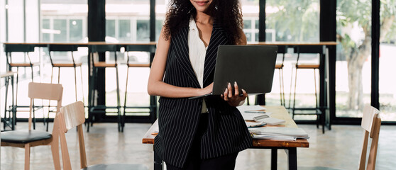
[[[57,111],[59,111],[62,104],[63,87],[60,84],[40,84],[29,83],[28,96],[31,98],[30,114],[29,114],[29,129],[28,130],[13,130],[1,132],[1,146],[2,147],[21,147],[25,148],[25,170],[29,169],[31,147],[40,145],[50,145],[53,153],[55,169],[60,169],[59,162],[59,143],[58,130],[53,129],[50,134],[41,130],[32,130],[32,110],[33,100],[35,98],[57,101]]]

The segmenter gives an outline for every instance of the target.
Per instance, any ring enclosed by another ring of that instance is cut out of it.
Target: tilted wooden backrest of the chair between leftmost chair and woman
[[[65,133],[77,127],[78,139],[79,139],[79,158],[81,162],[81,169],[87,167],[87,156],[85,154],[84,145],[84,134],[82,133],[82,124],[85,122],[84,103],[77,101],[67,106],[60,108],[60,113],[55,118],[56,127],[59,130],[60,137],[60,149],[62,151],[62,162],[63,169],[70,170],[72,165],[70,164],[69,151],[67,149]],[[55,124],[54,123],[54,124]]]

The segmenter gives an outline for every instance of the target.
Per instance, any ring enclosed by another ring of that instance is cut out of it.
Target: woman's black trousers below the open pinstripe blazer
[[[207,132],[209,113],[202,113],[199,118],[197,134],[194,136],[192,147],[187,157],[185,167],[179,168],[170,164],[166,165],[167,170],[230,170],[235,169],[235,161],[238,152],[227,154],[211,159],[201,159],[201,140]]]

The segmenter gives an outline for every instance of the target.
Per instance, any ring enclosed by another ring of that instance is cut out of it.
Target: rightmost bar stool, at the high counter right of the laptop
[[[297,62],[295,64],[295,91],[293,95],[293,106],[292,106],[292,118],[295,118],[295,115],[316,115],[317,116],[317,128],[319,128],[319,122],[321,118],[319,116],[322,116],[321,110],[318,105],[318,98],[317,98],[317,75],[316,71],[317,69],[319,70],[320,65],[319,64],[305,64],[305,63],[299,63],[300,60],[300,54],[318,54],[319,56],[323,54],[323,47],[321,46],[314,46],[314,45],[299,45],[297,47],[294,47],[295,53],[297,53]],[[298,69],[312,69],[314,71],[314,86],[315,86],[315,107],[314,108],[296,108],[295,107],[295,101],[296,101],[296,89],[297,89],[297,70]],[[292,75],[293,75],[293,69],[292,69]],[[290,84],[290,98],[289,98],[289,108],[290,108],[290,99],[291,99],[291,93],[292,93],[292,84]],[[295,111],[314,111],[314,113],[296,113]],[[324,121],[321,121],[322,124],[322,130],[324,132]]]

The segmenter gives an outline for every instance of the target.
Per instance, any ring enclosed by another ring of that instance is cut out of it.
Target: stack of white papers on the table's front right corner
[[[309,139],[307,132],[301,128],[253,128],[249,130],[253,134],[253,138],[271,139],[271,140],[295,140],[297,138]]]

